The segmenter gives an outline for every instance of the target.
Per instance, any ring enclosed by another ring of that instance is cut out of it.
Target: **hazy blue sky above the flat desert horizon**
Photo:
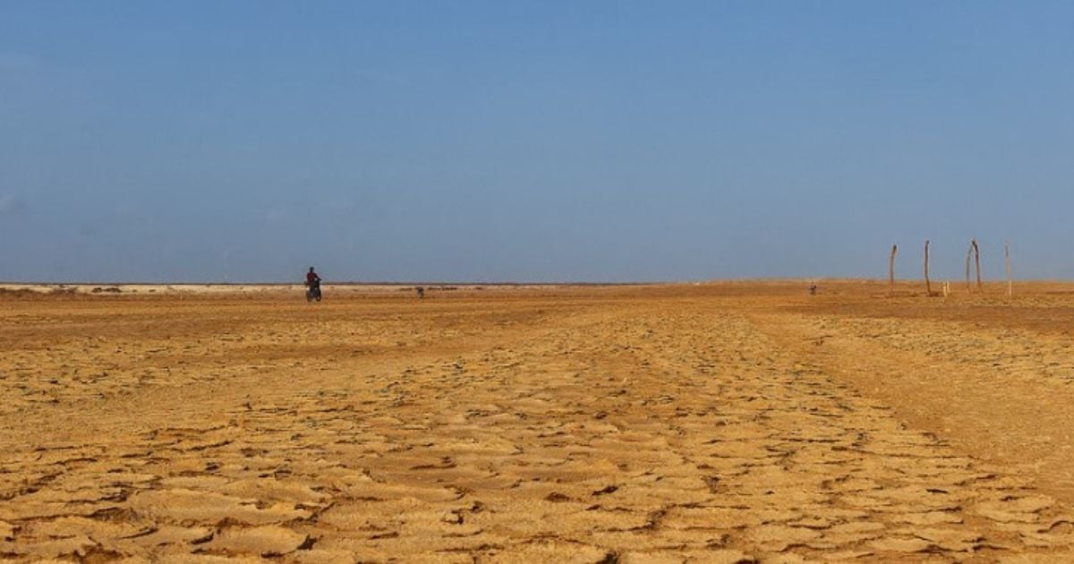
[[[0,279],[1074,278],[1074,2],[0,2]]]

